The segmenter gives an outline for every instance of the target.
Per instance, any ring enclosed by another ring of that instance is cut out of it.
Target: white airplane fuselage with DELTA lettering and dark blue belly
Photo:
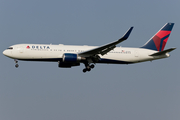
[[[61,61],[64,53],[78,54],[97,46],[75,46],[75,45],[48,45],[48,44],[17,44],[7,49],[4,55],[19,60],[28,61]],[[116,47],[105,55],[99,55],[98,63],[130,64],[144,61],[152,61],[169,57],[169,54],[161,56],[150,56],[157,51],[144,48]]]

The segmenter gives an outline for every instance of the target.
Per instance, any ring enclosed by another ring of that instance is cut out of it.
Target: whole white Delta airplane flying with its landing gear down
[[[132,64],[169,57],[169,52],[176,48],[164,50],[174,23],[166,23],[142,47],[116,47],[126,40],[133,27],[122,38],[102,46],[75,46],[52,44],[16,44],[3,51],[3,54],[14,59],[17,68],[18,60],[57,62],[58,67],[71,68],[85,65],[83,72],[91,71],[96,63]]]

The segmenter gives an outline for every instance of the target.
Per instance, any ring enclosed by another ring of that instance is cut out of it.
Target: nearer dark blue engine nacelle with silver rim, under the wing
[[[73,53],[64,53],[62,61],[65,63],[77,63],[80,62],[83,58]]]

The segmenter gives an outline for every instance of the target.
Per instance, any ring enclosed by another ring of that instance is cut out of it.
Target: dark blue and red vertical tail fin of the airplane
[[[174,23],[166,23],[146,44],[141,48],[163,51],[168,41]]]

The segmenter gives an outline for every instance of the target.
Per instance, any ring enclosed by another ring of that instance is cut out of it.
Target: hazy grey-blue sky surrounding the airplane
[[[134,29],[124,47],[140,47],[165,23],[174,28],[167,59],[80,67],[0,55],[3,120],[179,120],[179,0],[1,0],[0,51],[19,43],[103,45]]]

